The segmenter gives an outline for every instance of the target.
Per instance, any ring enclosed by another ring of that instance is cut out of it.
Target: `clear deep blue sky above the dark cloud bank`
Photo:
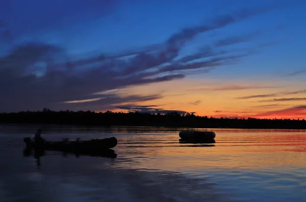
[[[250,56],[244,60],[245,63],[286,71],[288,65],[292,65],[289,62],[292,60],[296,69],[303,68],[299,55],[305,50],[306,43],[303,40],[306,31],[302,25],[306,21],[304,1],[132,0],[99,1],[100,3],[92,1],[93,5],[80,0],[75,2],[31,0],[26,3],[14,0],[11,3],[2,3],[7,4],[8,8],[3,7],[6,12],[2,13],[2,19],[11,27],[10,32],[16,36],[14,42],[17,44],[42,41],[60,44],[70,54],[82,54],[90,51],[117,52],[162,43],[182,28],[208,22],[216,15],[244,7],[275,5],[281,8],[207,33],[198,41],[205,45],[212,39],[224,36],[258,32],[262,36],[254,37],[247,45],[257,45],[260,42],[279,44],[262,48],[264,54]],[[214,34],[216,36],[211,37]],[[240,46],[242,45],[237,44],[235,47]],[[8,48],[10,47],[9,45]],[[279,56],[286,56],[287,63],[284,63],[285,60],[276,62],[275,59]],[[265,60],[265,64],[256,64],[259,63],[259,58]],[[249,69],[252,71],[255,68]]]

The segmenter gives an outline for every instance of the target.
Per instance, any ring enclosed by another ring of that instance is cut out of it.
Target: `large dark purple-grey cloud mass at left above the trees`
[[[66,64],[53,65],[46,62],[56,62],[61,57],[62,50],[60,48],[33,43],[19,46],[12,50],[9,55],[1,58],[0,83],[3,87],[0,88],[2,95],[0,102],[2,106],[5,106],[2,110],[40,109],[43,106],[56,107],[58,104],[55,105],[55,103],[64,101],[95,99],[97,95],[94,96],[92,94],[100,91],[184,78],[182,74],[169,74],[156,76],[155,78],[145,77],[145,75],[150,74],[121,77],[123,75],[120,75],[120,72],[112,70],[112,63],[101,65],[97,69],[78,72],[74,70],[75,63],[73,62],[69,68],[67,68]],[[93,60],[88,59],[87,61],[91,61],[87,64],[92,64]],[[33,68],[38,62],[46,63],[43,76],[31,73],[31,70],[36,71],[36,73],[40,71],[40,69]],[[84,61],[81,64],[86,65]],[[4,86],[6,87],[4,88]],[[129,99],[125,100],[119,99],[119,97],[110,97],[109,99],[95,100],[94,102],[103,106],[106,103],[117,103],[118,100],[121,100],[121,102],[144,101],[141,96],[133,98],[129,97]],[[150,99],[153,98],[150,97]],[[23,102],[19,103],[20,100],[23,100]],[[95,103],[90,104],[94,105]],[[84,103],[78,104],[84,106]],[[86,105],[88,104],[87,102]]]

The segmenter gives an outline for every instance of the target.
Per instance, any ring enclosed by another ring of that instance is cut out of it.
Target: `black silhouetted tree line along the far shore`
[[[1,124],[63,124],[83,126],[161,126],[192,128],[306,129],[304,119],[208,118],[193,113],[19,111],[0,113]]]

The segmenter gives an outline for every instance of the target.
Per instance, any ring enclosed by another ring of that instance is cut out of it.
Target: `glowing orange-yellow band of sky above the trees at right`
[[[195,112],[198,116],[215,118],[305,119],[306,107],[294,107],[304,105],[304,100],[300,97],[306,97],[306,92],[294,93],[303,90],[295,87],[301,86],[300,83],[284,83],[185,79],[133,86],[121,91],[129,95],[161,95],[159,99],[124,105],[154,105],[159,109]],[[109,110],[129,111],[116,106]]]

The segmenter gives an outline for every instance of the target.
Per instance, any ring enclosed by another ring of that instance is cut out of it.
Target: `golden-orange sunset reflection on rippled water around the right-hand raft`
[[[305,133],[219,133],[213,144],[182,144],[173,133],[129,135],[119,145],[119,158],[130,160],[119,165],[131,168],[278,169],[304,167],[306,162]]]

